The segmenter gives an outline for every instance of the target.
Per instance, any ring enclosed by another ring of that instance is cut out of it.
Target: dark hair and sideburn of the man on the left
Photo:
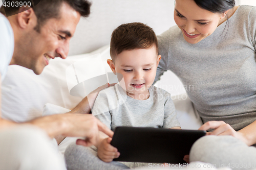
[[[35,3],[36,1],[39,1],[39,3]],[[37,17],[37,26],[35,27],[35,30],[38,32],[40,32],[41,26],[43,26],[48,19],[59,17],[59,9],[63,3],[67,3],[82,17],[89,16],[91,7],[91,3],[87,0],[13,0],[12,2],[31,2],[32,8]],[[19,7],[2,6],[0,8],[0,12],[2,14],[6,15],[8,13],[9,16],[17,14],[18,10]]]

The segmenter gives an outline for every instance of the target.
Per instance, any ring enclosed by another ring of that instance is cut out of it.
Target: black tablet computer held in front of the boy
[[[193,143],[205,131],[117,127],[111,144],[120,152],[114,161],[184,163]]]

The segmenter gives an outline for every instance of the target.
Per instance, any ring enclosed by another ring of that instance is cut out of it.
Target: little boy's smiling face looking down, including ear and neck
[[[127,95],[134,99],[148,98],[148,88],[153,84],[161,56],[156,54],[156,46],[146,49],[123,51],[115,58],[115,63],[108,60],[112,71],[122,74]],[[119,80],[120,81],[120,80]]]

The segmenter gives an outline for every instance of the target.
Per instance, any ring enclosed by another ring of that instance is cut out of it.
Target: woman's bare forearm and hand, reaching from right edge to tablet
[[[242,140],[248,146],[256,143],[256,120],[239,131],[235,131],[229,124],[223,121],[209,121],[202,125],[199,130],[215,129],[207,132],[207,135],[231,135]]]

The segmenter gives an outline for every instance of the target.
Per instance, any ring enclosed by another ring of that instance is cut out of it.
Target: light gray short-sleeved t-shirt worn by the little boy
[[[118,126],[180,127],[170,93],[154,86],[148,91],[148,99],[135,100],[116,84],[99,92],[92,114],[113,131]]]

